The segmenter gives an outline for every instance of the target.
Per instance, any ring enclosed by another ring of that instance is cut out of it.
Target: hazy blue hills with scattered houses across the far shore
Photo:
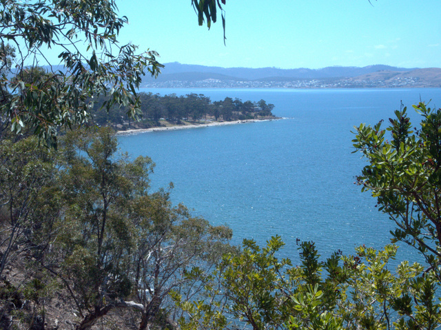
[[[143,87],[441,87],[440,68],[389,65],[322,69],[220,68],[165,63],[157,79],[145,76]]]

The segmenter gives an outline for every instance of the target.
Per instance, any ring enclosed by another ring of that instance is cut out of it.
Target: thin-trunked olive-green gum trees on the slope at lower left
[[[182,315],[170,291],[194,300],[203,282],[187,274],[205,274],[234,250],[231,229],[172,205],[172,187],[150,192],[150,158],[119,153],[107,127],[91,131],[68,132],[58,152],[38,148],[34,136],[0,141],[4,329],[35,321],[12,315],[26,300],[40,317],[60,293],[75,329],[115,310],[134,313],[140,330],[170,323]],[[21,284],[6,280],[11,267]]]

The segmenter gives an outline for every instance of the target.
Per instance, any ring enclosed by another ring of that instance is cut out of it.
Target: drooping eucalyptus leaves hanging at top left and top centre
[[[225,0],[222,1],[225,4]],[[118,35],[127,23],[114,0],[1,1],[0,9],[0,133],[10,127],[36,134],[56,145],[57,130],[87,123],[94,99],[106,96],[103,107],[124,105],[137,118],[136,90],[145,73],[157,76],[163,65],[153,50],[139,53],[121,45]],[[207,26],[216,22],[216,0],[192,0]],[[225,31],[225,16],[223,25]],[[58,67],[48,52],[56,52]],[[43,76],[29,68],[48,65]]]

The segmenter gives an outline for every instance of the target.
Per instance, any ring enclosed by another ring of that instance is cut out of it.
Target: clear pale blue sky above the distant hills
[[[225,68],[387,64],[441,68],[440,0],[227,0],[222,23],[200,27],[190,0],[117,1],[122,43],[162,63]]]

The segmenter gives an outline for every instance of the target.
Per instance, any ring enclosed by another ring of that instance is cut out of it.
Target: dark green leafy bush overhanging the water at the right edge
[[[386,130],[381,123],[356,127],[354,147],[369,162],[357,180],[395,221],[393,240],[416,247],[441,280],[441,110],[414,107],[419,128],[412,128],[405,107]]]

